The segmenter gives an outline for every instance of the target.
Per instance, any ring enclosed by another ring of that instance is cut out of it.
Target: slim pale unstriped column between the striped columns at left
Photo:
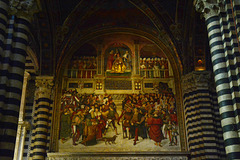
[[[30,74],[25,71],[24,79],[23,79],[21,105],[20,105],[19,118],[18,118],[18,130],[17,130],[17,137],[16,137],[16,143],[15,143],[14,160],[22,158],[23,147],[24,147],[25,136],[26,136],[26,129],[29,128],[29,122],[24,121],[26,90],[27,90],[27,83],[29,78],[30,78]]]

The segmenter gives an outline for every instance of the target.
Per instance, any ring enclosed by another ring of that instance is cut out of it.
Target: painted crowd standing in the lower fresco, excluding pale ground
[[[155,145],[169,139],[169,145],[177,145],[178,121],[175,99],[172,94],[131,94],[126,95],[122,107],[117,106],[111,95],[79,95],[67,91],[61,101],[60,140],[65,143],[72,139],[73,145],[95,145],[106,140],[106,133],[121,125],[123,138],[150,138]],[[115,138],[112,138],[115,139]]]

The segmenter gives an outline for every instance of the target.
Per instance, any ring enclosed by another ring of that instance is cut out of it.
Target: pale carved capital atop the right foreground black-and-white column
[[[203,14],[205,19],[216,16],[224,6],[224,0],[194,0],[196,11]]]

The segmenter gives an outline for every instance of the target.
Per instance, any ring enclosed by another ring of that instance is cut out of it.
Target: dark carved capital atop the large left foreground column
[[[41,10],[40,0],[10,0],[9,13],[31,20],[33,14]]]

